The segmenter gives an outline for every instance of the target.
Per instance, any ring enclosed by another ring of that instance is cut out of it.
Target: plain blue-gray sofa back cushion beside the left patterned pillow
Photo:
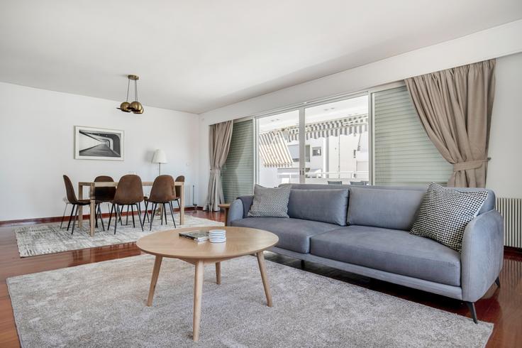
[[[348,190],[291,190],[288,215],[346,226]]]

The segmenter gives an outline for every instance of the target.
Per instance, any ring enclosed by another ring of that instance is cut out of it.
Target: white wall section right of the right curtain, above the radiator
[[[498,197],[522,198],[522,53],[499,58],[487,187]]]

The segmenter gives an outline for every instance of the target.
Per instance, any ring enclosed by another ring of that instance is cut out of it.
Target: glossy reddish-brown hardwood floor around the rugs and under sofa
[[[201,210],[187,212],[197,217],[224,221],[224,215]],[[13,309],[6,286],[6,278],[22,274],[49,271],[58,268],[78,266],[111,259],[120,259],[141,254],[135,243],[103,246],[99,248],[65,251],[58,254],[20,258],[16,238],[12,227],[0,228],[0,347],[20,347],[13,318]],[[445,298],[404,286],[397,286],[383,281],[357,276],[345,271],[317,265],[310,262],[301,263],[273,253],[266,253],[265,259],[283,263],[294,268],[321,274],[331,278],[352,283],[357,286],[388,293],[406,300],[422,303],[433,308],[470,316],[465,303]],[[501,275],[501,288],[492,286],[484,298],[476,303],[479,320],[494,323],[492,337],[488,347],[521,347],[522,346],[522,252],[507,251],[504,256],[504,268]],[[462,335],[466,335],[462,332]]]

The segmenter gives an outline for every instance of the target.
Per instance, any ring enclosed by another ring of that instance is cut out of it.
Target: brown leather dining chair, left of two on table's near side
[[[114,194],[113,200],[111,200],[111,212],[109,212],[109,227],[111,227],[112,212],[114,212],[114,234],[116,234],[116,227],[118,226],[118,219],[121,220],[120,206],[130,207],[131,214],[133,216],[133,227],[136,227],[134,222],[134,206],[138,210],[138,218],[140,219],[140,227],[143,231],[143,222],[141,222],[140,214],[140,202],[143,202],[143,184],[141,178],[138,175],[123,175],[118,181],[118,187],[116,187],[116,193]]]

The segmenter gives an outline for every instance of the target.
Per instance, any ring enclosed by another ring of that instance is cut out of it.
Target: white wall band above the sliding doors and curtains
[[[402,55],[379,60],[361,67],[345,70],[338,74],[281,89],[200,115],[199,136],[199,187],[206,187],[209,180],[209,125],[229,119],[250,116],[301,102],[333,96],[335,94],[359,92],[371,87],[404,80],[406,77],[426,74],[481,60],[499,58],[522,52],[522,20],[490,28],[486,31],[414,50]],[[502,60],[499,60],[502,65]],[[501,67],[499,67],[501,69]],[[497,78],[497,87],[502,78]],[[521,94],[518,94],[520,96]],[[520,97],[519,97],[520,98]],[[515,103],[515,100],[511,102]],[[503,140],[492,140],[503,141]],[[517,149],[511,149],[518,151]],[[492,162],[493,166],[494,163]],[[509,170],[509,168],[506,168]],[[514,184],[514,183],[513,183]],[[199,190],[203,202],[206,190]]]

